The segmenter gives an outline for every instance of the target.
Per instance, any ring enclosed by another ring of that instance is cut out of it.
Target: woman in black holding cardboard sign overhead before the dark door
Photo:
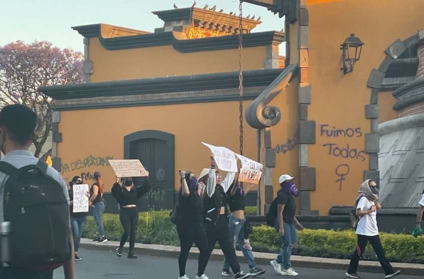
[[[119,184],[120,178],[116,177],[116,181],[112,186],[112,196],[119,203],[119,220],[121,221],[124,233],[121,237],[119,247],[116,249],[116,256],[122,256],[125,242],[130,237],[130,249],[128,251],[128,259],[137,259],[134,254],[134,246],[136,242],[137,223],[139,212],[137,208],[137,200],[150,190],[150,183],[146,176],[141,187],[136,187],[134,183],[138,180],[132,177],[123,177],[122,184]]]

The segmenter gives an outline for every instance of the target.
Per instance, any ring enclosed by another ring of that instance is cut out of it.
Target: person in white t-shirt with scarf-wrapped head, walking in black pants
[[[401,271],[393,269],[392,265],[386,259],[383,246],[381,245],[380,235],[377,227],[376,211],[381,208],[378,200],[377,184],[374,180],[368,179],[359,187],[359,196],[357,198],[356,215],[359,216],[356,235],[358,242],[350,260],[349,270],[346,276],[349,278],[360,278],[356,273],[359,264],[359,258],[365,251],[367,243],[370,242],[380,261],[381,267],[386,274],[386,278],[397,276]]]

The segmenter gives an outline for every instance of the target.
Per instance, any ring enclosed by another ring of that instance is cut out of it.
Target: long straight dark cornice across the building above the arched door
[[[267,86],[283,69],[243,72],[243,86]],[[38,91],[55,100],[238,88],[238,71],[192,76],[42,86]]]

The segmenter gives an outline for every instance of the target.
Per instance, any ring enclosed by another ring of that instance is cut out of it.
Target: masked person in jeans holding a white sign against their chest
[[[82,178],[79,176],[74,176],[69,182],[69,212],[71,214],[71,229],[72,237],[74,240],[74,250],[75,250],[75,261],[81,261],[81,258],[78,256],[79,243],[81,241],[81,236],[84,233],[85,223],[87,223],[87,212],[73,212],[74,204],[74,191],[73,186],[75,184],[82,184]],[[88,197],[87,192],[87,197]]]

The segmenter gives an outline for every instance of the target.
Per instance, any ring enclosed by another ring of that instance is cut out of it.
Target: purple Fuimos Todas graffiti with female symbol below
[[[349,139],[361,138],[363,136],[360,127],[340,128],[329,124],[321,124],[320,136],[322,138],[329,139],[328,142],[322,144],[329,156],[365,161],[365,150],[356,148],[352,145],[352,143],[348,142]],[[334,142],[336,139],[342,139],[343,143]],[[341,191],[343,187],[343,181],[346,181],[346,177],[350,172],[348,161],[343,164],[338,164],[335,167],[334,172],[336,174],[335,182],[339,187],[339,191]]]

